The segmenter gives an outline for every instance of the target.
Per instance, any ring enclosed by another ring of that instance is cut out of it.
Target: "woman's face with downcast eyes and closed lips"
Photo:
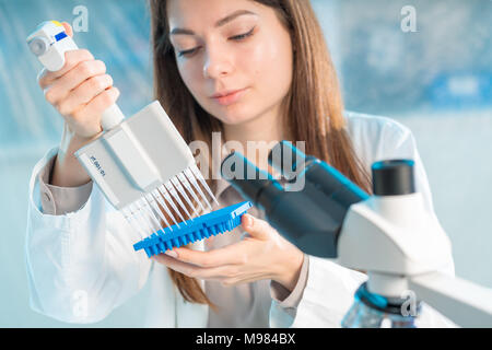
[[[179,73],[226,125],[279,113],[292,82],[292,43],[273,9],[250,0],[168,0]]]

